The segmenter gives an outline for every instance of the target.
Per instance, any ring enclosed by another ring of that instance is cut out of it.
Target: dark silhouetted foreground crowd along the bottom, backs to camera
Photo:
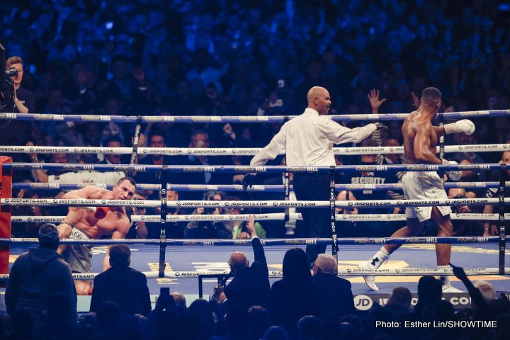
[[[37,319],[26,307],[10,310],[10,317],[0,319],[1,338],[455,340],[508,339],[510,336],[510,302],[506,295],[497,296],[494,287],[486,281],[473,284],[463,268],[455,266],[455,276],[463,281],[470,294],[469,308],[454,310],[448,299],[441,298],[441,281],[433,276],[423,276],[419,279],[415,303],[412,303],[408,288],[395,287],[384,305],[374,302],[369,310],[361,311],[355,309],[351,283],[336,276],[336,260],[330,255],[319,255],[311,276],[305,251],[289,249],[283,259],[283,278],[270,288],[263,250],[258,241],[254,251],[259,254],[251,266],[243,253],[232,253],[229,264],[234,279],[225,290],[228,300],[217,302],[199,298],[187,307],[186,297],[179,293],[169,294],[168,288],[162,288],[154,309],[147,310],[137,298],[127,297],[139,295],[147,305],[148,292],[144,293],[142,289],[143,285],[147,288],[146,283],[125,286],[123,294],[111,289],[122,285],[117,281],[128,271],[136,273],[128,267],[129,260],[125,263],[129,255],[122,247],[128,247],[115,246],[123,253],[118,256],[122,263],[115,260],[116,264],[112,263],[115,270],[106,272],[109,283],[101,279],[101,287],[99,282],[98,287],[94,287],[94,290],[101,289],[101,293],[98,293],[100,300],[94,300],[93,293],[91,312],[77,317],[72,308],[76,292],[55,293],[45,297],[47,307],[42,305]],[[68,276],[70,278],[70,273]],[[143,274],[137,273],[137,276]],[[104,285],[109,288],[105,289]],[[231,290],[228,290],[230,285]],[[250,302],[249,307],[245,302]],[[259,302],[263,306],[258,305]]]

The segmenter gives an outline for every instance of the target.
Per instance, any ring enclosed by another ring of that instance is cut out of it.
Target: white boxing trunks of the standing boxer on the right
[[[406,172],[402,177],[402,189],[406,200],[447,200],[443,180],[435,171]],[[448,206],[437,206],[441,215],[451,213]],[[407,207],[406,217],[417,218],[420,222],[429,220],[432,207]]]

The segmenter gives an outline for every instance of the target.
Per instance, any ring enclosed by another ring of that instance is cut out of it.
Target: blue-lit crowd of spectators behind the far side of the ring
[[[23,59],[21,87],[33,92],[35,113],[297,115],[305,108],[311,86],[329,90],[332,114],[407,113],[416,107],[414,94],[426,86],[442,91],[443,111],[473,111],[510,108],[510,25],[505,20],[508,10],[499,1],[477,0],[462,4],[402,0],[130,0],[123,4],[100,0],[17,1],[0,4],[0,27],[8,56]],[[474,135],[447,138],[447,145],[509,142],[508,117],[473,120],[477,127]],[[360,123],[346,124],[353,127]],[[401,124],[400,120],[385,123],[365,145],[402,145]],[[0,121],[3,145],[130,147],[135,130],[134,124],[120,123],[37,121],[18,125],[13,129],[13,122]],[[280,126],[149,123],[142,126],[142,131],[150,147],[262,147]],[[18,162],[129,162],[115,154],[96,157],[30,153],[13,157]],[[484,163],[499,162],[501,154],[469,152],[452,157],[464,163]],[[154,154],[139,162],[237,165],[248,164],[249,157]],[[278,157],[272,164],[280,162]],[[391,159],[391,155],[338,159],[339,164],[360,162],[399,164],[402,160]],[[482,181],[489,176],[483,172],[465,173],[462,181]],[[121,175],[73,176],[58,171],[17,171],[14,180],[114,183]],[[396,180],[374,177],[385,183]],[[359,183],[356,178],[344,175],[339,183]],[[139,173],[135,179],[138,183],[159,183],[154,173]],[[241,179],[205,173],[176,174],[172,181],[232,184]],[[260,176],[259,181],[281,183],[279,177]],[[357,199],[399,195],[382,191],[348,194]],[[473,197],[472,194],[485,196],[480,190],[451,196]],[[15,195],[45,198],[59,193],[23,191]],[[176,195],[181,199],[205,199],[215,194]],[[225,198],[225,194],[220,196]],[[263,200],[270,196],[254,193],[238,198]],[[157,199],[157,191],[142,193],[142,197]],[[47,210],[34,207],[34,215],[64,215],[38,211],[41,209]],[[362,222],[346,225],[348,229],[341,229],[344,236],[387,236],[398,228],[382,223],[371,223],[370,229]],[[149,237],[157,237],[158,232],[152,231],[149,224],[146,227]],[[225,237],[237,237],[233,227],[226,228]],[[261,227],[268,237],[300,235],[299,223],[264,222]],[[16,225],[15,235],[30,235],[33,228]],[[193,226],[179,225],[174,229],[167,234],[184,237],[190,230],[196,234]],[[458,234],[487,234],[482,222],[457,229],[462,230]],[[490,225],[487,229],[494,233]],[[222,234],[222,230],[213,232]]]

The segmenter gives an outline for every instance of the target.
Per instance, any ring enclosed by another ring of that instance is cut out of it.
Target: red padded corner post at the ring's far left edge
[[[0,156],[0,198],[12,197],[12,168],[3,169],[2,164],[12,163],[11,157]],[[11,237],[11,205],[0,205],[0,237]],[[0,244],[0,273],[8,273],[9,244]],[[6,283],[0,283],[5,287]]]

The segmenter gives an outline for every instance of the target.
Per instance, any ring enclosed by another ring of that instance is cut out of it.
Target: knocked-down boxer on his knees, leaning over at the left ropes
[[[129,200],[136,190],[136,183],[129,177],[120,179],[113,190],[86,186],[64,194],[64,199]],[[59,226],[61,239],[99,239],[111,234],[112,239],[123,239],[131,222],[124,207],[69,207],[69,213]],[[92,254],[90,245],[61,245],[57,250],[69,263],[73,273],[90,273]],[[103,270],[109,267],[108,253],[103,261]],[[78,295],[89,295],[92,283],[75,280]]]

